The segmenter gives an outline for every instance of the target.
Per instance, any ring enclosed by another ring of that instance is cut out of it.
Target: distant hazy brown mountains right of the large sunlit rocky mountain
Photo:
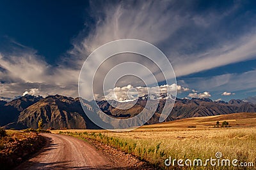
[[[147,124],[159,123],[159,115],[163,111],[165,102],[166,99],[159,99],[159,105],[157,107],[156,114],[154,115],[153,118],[151,118],[148,121]],[[112,115],[114,117],[129,118],[138,115],[140,111],[143,110],[146,103],[147,98],[140,97],[136,105],[129,110],[120,110],[113,108],[113,106],[108,104],[107,101],[100,101],[97,104],[99,105],[101,110],[108,115]],[[120,104],[129,104],[129,102]],[[177,98],[173,106],[173,110],[170,113],[169,117],[166,119],[166,122],[189,117],[207,117],[213,115],[226,115],[230,113],[239,112],[256,112],[256,105],[252,103],[246,103],[239,99],[232,99],[229,103],[225,103],[225,101],[214,102],[209,98]]]

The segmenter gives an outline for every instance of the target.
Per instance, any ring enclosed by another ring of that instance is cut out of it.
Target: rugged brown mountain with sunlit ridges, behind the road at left
[[[78,98],[48,96],[22,111],[17,123],[36,129],[40,119],[45,128],[99,129],[86,117]]]

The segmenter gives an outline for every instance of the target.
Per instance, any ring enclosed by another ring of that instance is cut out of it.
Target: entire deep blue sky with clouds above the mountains
[[[0,99],[77,97],[86,57],[125,38],[147,41],[166,55],[177,97],[253,99],[255,6],[255,1],[0,1]],[[126,58],[147,65],[141,57]],[[118,87],[141,87],[129,83]]]

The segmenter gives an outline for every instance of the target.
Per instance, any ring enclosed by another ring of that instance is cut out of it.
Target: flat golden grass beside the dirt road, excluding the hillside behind
[[[82,139],[100,141],[118,150],[131,153],[141,160],[146,160],[163,169],[179,169],[166,167],[164,160],[172,159],[215,159],[216,152],[221,152],[221,159],[238,159],[239,162],[253,162],[256,165],[256,129],[137,129],[131,132],[108,131],[60,131]],[[177,164],[176,164],[177,165]],[[195,167],[184,167],[195,169]],[[213,167],[209,164],[208,169]],[[241,168],[241,167],[240,167]],[[196,168],[198,169],[198,167]],[[214,169],[230,169],[230,167],[214,167]],[[231,168],[232,169],[232,168]]]

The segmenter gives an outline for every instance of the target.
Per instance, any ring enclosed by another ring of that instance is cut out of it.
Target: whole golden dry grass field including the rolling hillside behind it
[[[231,127],[214,128],[216,121],[228,121]],[[213,117],[186,118],[156,125],[145,125],[131,132],[103,130],[54,131],[77,138],[95,139],[127,153],[136,155],[163,169],[164,160],[172,159],[237,159],[238,163],[252,162],[253,167],[229,167],[207,164],[207,167],[183,167],[189,169],[256,169],[256,113],[236,113]],[[238,164],[237,163],[237,164]],[[252,165],[252,164],[251,164]]]

